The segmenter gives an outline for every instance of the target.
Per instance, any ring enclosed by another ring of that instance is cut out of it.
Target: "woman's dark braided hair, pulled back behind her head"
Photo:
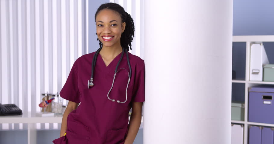
[[[126,22],[126,28],[124,30],[124,32],[121,35],[120,38],[120,42],[121,42],[121,46],[124,47],[127,51],[129,51],[129,49],[131,48],[131,42],[133,40],[132,37],[134,37],[134,22],[132,17],[130,16],[130,14],[128,14],[124,8],[122,6],[120,6],[119,4],[116,3],[105,3],[102,4],[96,11],[95,13],[95,22],[96,22],[96,16],[98,14],[99,11],[104,10],[104,9],[110,9],[110,10],[114,10],[117,13],[119,13],[119,15],[122,18],[122,23]],[[96,33],[97,35],[97,33]],[[99,38],[97,38],[97,41],[99,41],[99,46],[102,47],[103,44],[102,42],[99,40]]]

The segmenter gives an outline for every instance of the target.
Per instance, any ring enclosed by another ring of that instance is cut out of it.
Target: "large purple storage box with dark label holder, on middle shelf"
[[[255,86],[249,88],[248,121],[274,124],[273,98],[273,86]]]

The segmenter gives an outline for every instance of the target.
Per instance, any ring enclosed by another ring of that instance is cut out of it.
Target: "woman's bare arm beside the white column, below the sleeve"
[[[143,102],[132,102],[132,113],[129,120],[129,130],[124,144],[132,144],[139,131],[142,120]]]

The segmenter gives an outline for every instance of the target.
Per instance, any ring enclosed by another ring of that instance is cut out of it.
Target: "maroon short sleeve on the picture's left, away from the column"
[[[76,62],[74,62],[67,81],[60,91],[60,96],[68,101],[80,103],[80,94],[78,88],[78,71]]]

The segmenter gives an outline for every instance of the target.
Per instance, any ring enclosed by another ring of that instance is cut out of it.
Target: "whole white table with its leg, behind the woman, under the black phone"
[[[23,112],[19,116],[0,116],[0,123],[25,123],[28,125],[28,144],[36,143],[36,123],[61,123],[63,115],[41,117],[36,113]],[[129,116],[130,119],[130,116]],[[142,121],[143,123],[143,116]],[[142,127],[142,123],[140,128]]]

